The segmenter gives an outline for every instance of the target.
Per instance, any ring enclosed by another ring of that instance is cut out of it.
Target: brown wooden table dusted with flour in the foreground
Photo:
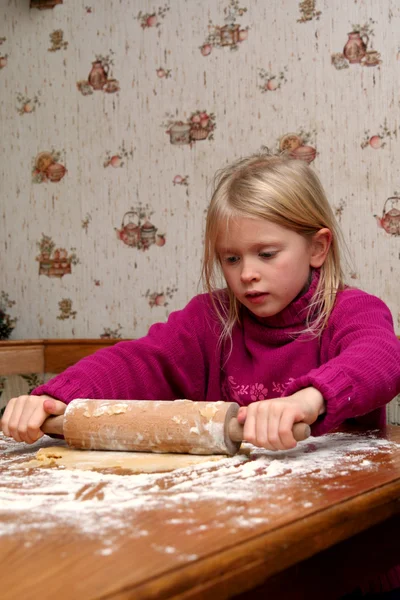
[[[16,470],[37,445],[0,438],[0,596],[338,598],[400,563],[400,428],[343,436],[129,477]]]

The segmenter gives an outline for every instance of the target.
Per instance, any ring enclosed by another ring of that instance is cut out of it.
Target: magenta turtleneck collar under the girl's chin
[[[309,306],[318,286],[320,276],[319,269],[312,269],[311,282],[308,289],[297,296],[286,308],[272,317],[257,317],[254,313],[245,309],[247,315],[252,319],[270,327],[271,329],[286,329],[287,327],[294,328],[294,331],[304,327]],[[293,330],[293,329],[292,329]]]

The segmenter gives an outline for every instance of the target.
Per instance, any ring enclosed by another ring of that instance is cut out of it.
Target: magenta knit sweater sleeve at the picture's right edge
[[[390,402],[400,392],[400,341],[387,306],[359,290],[342,292],[322,334],[321,360],[285,391],[312,386],[323,395],[326,412],[312,425],[313,435]]]

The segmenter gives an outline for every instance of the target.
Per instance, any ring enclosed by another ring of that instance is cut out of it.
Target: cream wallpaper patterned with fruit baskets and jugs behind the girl
[[[316,169],[349,283],[400,330],[399,32],[398,0],[2,2],[11,337],[139,337],[183,307],[212,176],[262,148]]]

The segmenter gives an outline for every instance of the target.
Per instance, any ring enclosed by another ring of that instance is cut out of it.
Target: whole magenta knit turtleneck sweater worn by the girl
[[[229,400],[248,405],[314,386],[327,410],[313,435],[346,419],[371,428],[385,422],[385,405],[400,392],[400,342],[391,314],[357,289],[337,296],[321,339],[291,333],[304,328],[318,282],[275,317],[246,309],[233,330],[233,349],[218,344],[221,327],[207,294],[196,296],[147,336],[84,358],[34,390],[66,403],[74,398]]]

